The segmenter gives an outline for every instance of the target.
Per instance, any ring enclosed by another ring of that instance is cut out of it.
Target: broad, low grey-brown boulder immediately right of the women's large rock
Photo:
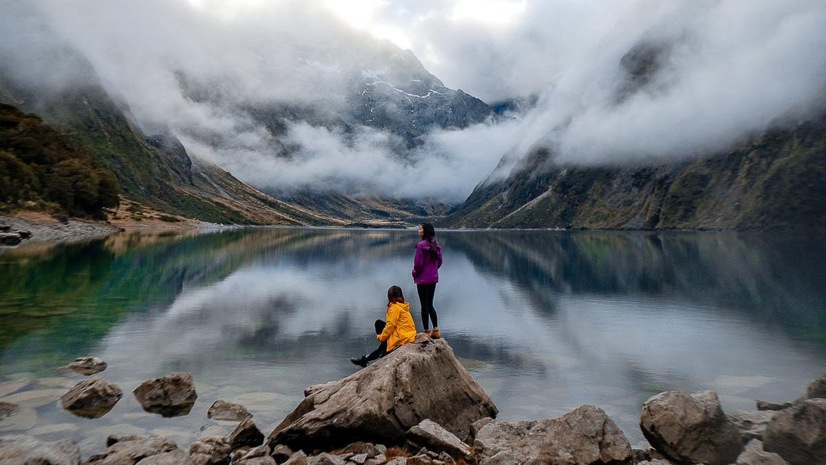
[[[627,463],[631,446],[605,412],[582,405],[556,419],[487,421],[474,439],[480,465]]]

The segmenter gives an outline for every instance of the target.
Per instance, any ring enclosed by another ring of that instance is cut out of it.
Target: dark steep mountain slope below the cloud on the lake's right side
[[[826,228],[826,117],[731,151],[640,167],[555,165],[532,152],[444,222],[457,228]]]

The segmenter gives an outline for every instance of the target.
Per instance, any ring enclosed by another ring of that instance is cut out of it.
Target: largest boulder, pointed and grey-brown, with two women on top
[[[326,450],[356,441],[401,445],[408,429],[432,419],[459,439],[498,413],[444,339],[424,334],[339,381],[311,386],[273,429],[268,444]]]

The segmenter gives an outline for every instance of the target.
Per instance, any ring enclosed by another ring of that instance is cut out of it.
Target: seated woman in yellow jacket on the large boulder
[[[350,362],[359,367],[367,367],[368,362],[384,357],[393,349],[415,339],[415,324],[411,316],[411,305],[405,302],[405,295],[401,287],[392,285],[387,288],[387,322],[377,319],[376,338],[381,342],[373,352],[358,358],[351,358]]]

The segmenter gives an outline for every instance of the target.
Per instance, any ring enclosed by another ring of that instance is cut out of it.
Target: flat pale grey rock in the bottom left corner
[[[80,448],[70,440],[41,443],[28,436],[7,436],[0,438],[0,463],[80,465]]]

